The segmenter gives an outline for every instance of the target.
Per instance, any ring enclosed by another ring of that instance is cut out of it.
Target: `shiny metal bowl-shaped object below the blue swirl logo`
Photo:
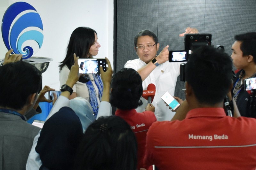
[[[52,60],[53,60],[52,58],[46,58],[46,57],[30,57],[28,59],[24,59],[23,61],[29,62],[29,64],[36,66],[38,70],[44,73],[50,64],[50,61]]]

